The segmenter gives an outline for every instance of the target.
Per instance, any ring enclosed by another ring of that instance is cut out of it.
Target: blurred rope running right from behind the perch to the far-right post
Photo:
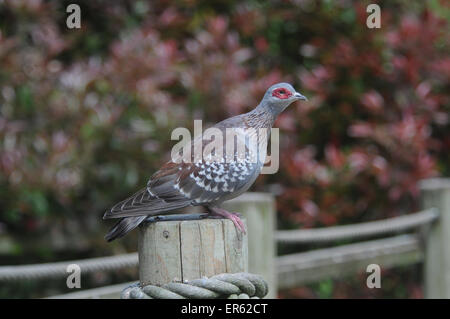
[[[361,224],[302,230],[281,230],[276,232],[275,238],[278,242],[298,244],[369,237],[424,226],[432,223],[438,217],[438,211],[435,208],[431,208],[415,214]]]

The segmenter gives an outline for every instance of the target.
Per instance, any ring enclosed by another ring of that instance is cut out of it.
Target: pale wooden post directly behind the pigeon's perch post
[[[267,281],[269,293],[266,298],[276,298],[276,207],[273,195],[245,193],[223,203],[223,207],[241,213],[247,220],[249,272],[259,274]]]

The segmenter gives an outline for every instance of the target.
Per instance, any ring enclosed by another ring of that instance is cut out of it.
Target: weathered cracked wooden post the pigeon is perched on
[[[163,285],[247,272],[247,249],[247,236],[238,236],[230,220],[145,223],[138,240],[140,282]]]

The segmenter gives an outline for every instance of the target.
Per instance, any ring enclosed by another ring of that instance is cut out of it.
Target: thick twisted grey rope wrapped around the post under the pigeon
[[[249,273],[220,274],[162,286],[132,284],[122,299],[260,299],[267,295],[267,282]]]

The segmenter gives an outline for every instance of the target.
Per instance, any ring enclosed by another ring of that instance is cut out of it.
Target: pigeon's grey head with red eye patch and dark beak
[[[279,114],[292,102],[298,100],[307,101],[308,99],[295,91],[289,83],[277,83],[267,89],[262,102],[270,106],[272,112]]]

